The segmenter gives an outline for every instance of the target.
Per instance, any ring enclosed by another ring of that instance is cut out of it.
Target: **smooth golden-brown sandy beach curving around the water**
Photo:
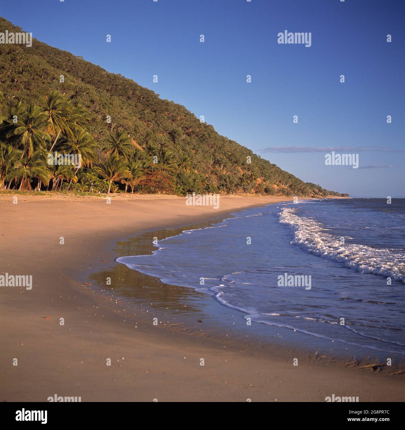
[[[111,204],[23,194],[15,204],[12,194],[0,195],[0,274],[32,275],[32,289],[1,287],[1,400],[282,402],[334,394],[403,401],[400,375],[306,359],[294,366],[292,355],[170,331],[151,319],[134,326],[85,285],[91,273],[118,264],[119,240],[287,200],[221,196],[213,209],[159,195],[112,195]]]

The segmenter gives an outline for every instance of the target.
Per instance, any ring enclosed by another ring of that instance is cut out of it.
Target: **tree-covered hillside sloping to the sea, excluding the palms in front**
[[[0,17],[0,32],[6,30],[22,31]],[[75,106],[83,105],[90,116],[87,130],[96,142],[95,154],[101,161],[108,153],[103,148],[111,132],[126,132],[133,151],[126,154],[125,161],[142,161],[148,175],[148,181],[135,183],[140,184],[141,188],[136,185],[135,189],[141,192],[341,195],[304,183],[263,160],[248,148],[219,135],[213,126],[201,123],[186,107],[162,100],[133,80],[108,73],[83,58],[35,39],[31,47],[0,44],[0,91],[4,96],[3,109],[8,107],[9,111],[18,101],[42,106],[41,100],[51,91],[59,92]],[[110,123],[106,121],[108,116]],[[160,154],[167,157],[167,166],[171,168],[163,169],[164,177],[155,178],[153,174],[159,169],[148,167],[147,159],[153,154],[158,159]],[[251,163],[247,162],[249,156]],[[96,164],[93,160],[86,169]],[[80,181],[80,173],[73,182],[77,180]],[[156,186],[154,181],[162,181],[162,185]],[[115,184],[123,189],[121,182]]]

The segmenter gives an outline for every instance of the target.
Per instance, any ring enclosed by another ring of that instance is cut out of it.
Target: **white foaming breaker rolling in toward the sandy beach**
[[[282,208],[278,214],[281,224],[288,224],[294,230],[292,244],[312,254],[342,262],[361,273],[389,276],[405,283],[404,254],[355,243],[342,245],[340,238],[322,232],[325,227],[321,224],[311,218],[300,217],[295,212],[295,208]]]

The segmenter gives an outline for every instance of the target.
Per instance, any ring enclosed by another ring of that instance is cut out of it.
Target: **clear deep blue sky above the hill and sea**
[[[20,0],[0,15],[184,104],[304,181],[405,195],[402,0]],[[279,44],[285,30],[311,33],[311,46]],[[333,150],[359,154],[359,168],[325,166]]]

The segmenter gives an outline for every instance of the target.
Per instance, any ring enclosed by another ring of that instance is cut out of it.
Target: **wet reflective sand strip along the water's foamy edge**
[[[234,213],[238,216],[240,212]],[[225,219],[229,219],[229,215]],[[203,223],[182,226],[177,229],[151,230],[146,233],[116,243],[114,252],[120,257],[134,255],[151,255],[156,251],[152,240],[158,237],[163,240],[168,237],[176,237],[183,231],[204,229],[223,221],[224,217]],[[158,318],[158,326],[192,336],[210,338],[217,343],[248,344],[249,350],[255,352],[272,351],[278,356],[290,354],[291,351],[305,356],[307,361],[318,363],[333,363],[340,367],[367,368],[372,363],[379,363],[386,353],[372,350],[354,344],[335,342],[327,344],[324,339],[308,337],[299,331],[287,329],[281,326],[271,326],[252,321],[252,328],[248,328],[244,316],[247,314],[233,307],[227,307],[220,301],[216,301],[212,295],[199,292],[187,286],[180,286],[170,282],[164,282],[159,276],[144,273],[128,267],[124,262],[118,262],[117,266],[100,272],[89,273],[87,280],[92,282],[93,289],[98,293],[111,297],[114,295],[112,306],[116,312],[123,313],[125,309],[126,319],[136,319],[145,322],[145,318],[155,316]],[[105,285],[105,278],[120,279],[118,285]],[[147,290],[144,292],[145,286]],[[164,290],[164,295],[160,293]],[[183,301],[181,301],[182,298]],[[163,299],[163,300],[162,300]],[[149,303],[152,302],[152,303]],[[139,304],[142,310],[139,310]],[[180,311],[178,307],[187,307]],[[178,314],[176,314],[176,312]],[[139,316],[142,315],[142,316]],[[173,320],[173,314],[176,315]],[[136,316],[136,318],[135,318]],[[252,333],[253,331],[253,333]],[[315,351],[315,353],[314,353]],[[380,356],[380,358],[379,358]],[[402,361],[398,361],[401,360]],[[403,370],[404,361],[400,354],[393,358],[395,364],[392,367],[383,367],[384,375],[395,375]]]

